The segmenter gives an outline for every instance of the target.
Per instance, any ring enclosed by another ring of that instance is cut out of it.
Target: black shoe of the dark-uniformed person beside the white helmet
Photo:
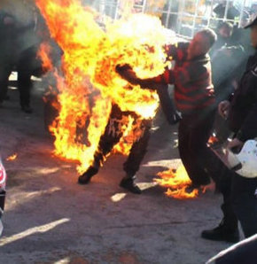
[[[238,228],[228,229],[223,222],[215,229],[203,230],[201,237],[214,241],[226,241],[232,243],[237,243],[240,239]]]

